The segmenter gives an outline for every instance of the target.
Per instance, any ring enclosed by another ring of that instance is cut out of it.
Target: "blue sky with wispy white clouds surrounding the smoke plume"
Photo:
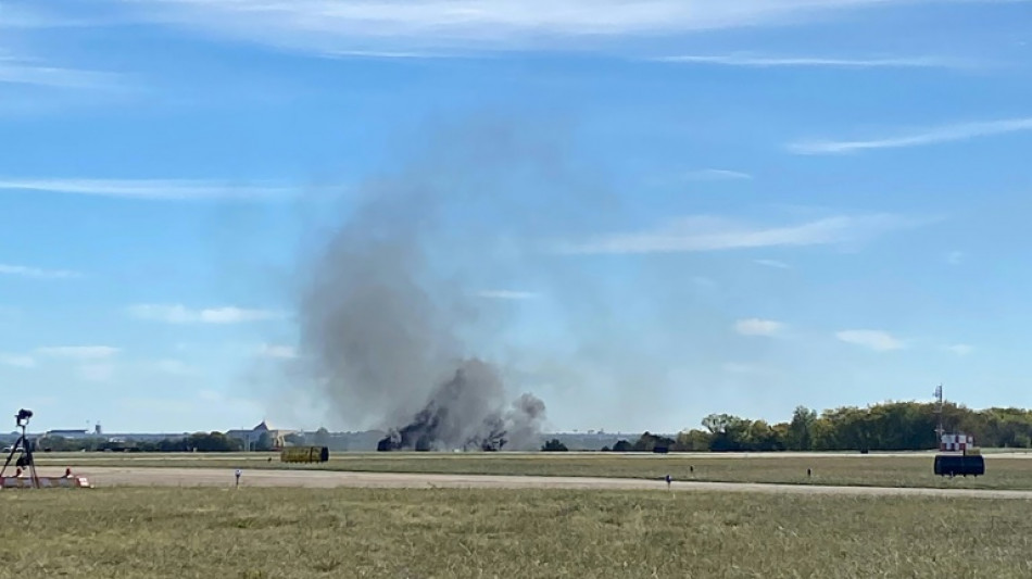
[[[488,174],[433,249],[475,273],[470,353],[553,428],[939,382],[1032,406],[1030,24],[989,0],[2,0],[0,388],[38,428],[369,426],[285,369],[295,268],[368,179],[490,154],[455,127],[496,124],[561,178]]]

